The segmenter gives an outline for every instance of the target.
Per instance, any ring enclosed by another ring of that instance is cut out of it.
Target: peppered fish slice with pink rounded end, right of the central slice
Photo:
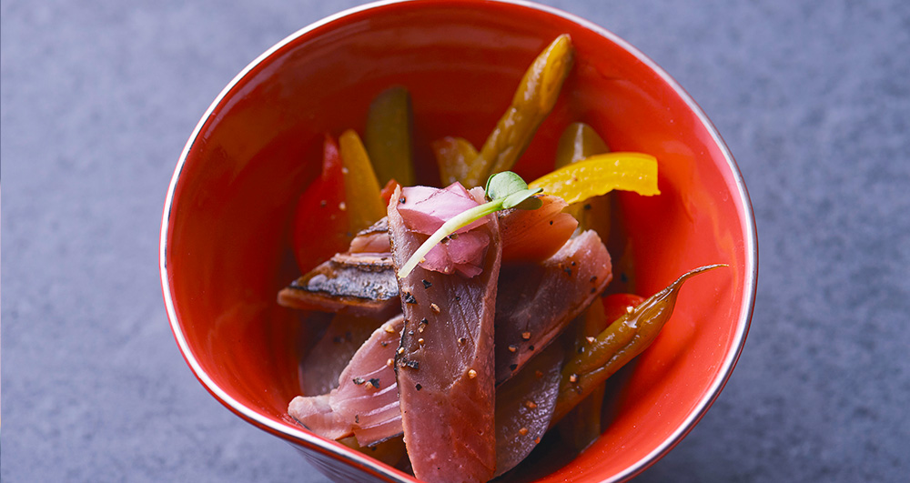
[[[610,254],[592,230],[541,264],[502,268],[496,299],[496,383],[547,347],[612,279]]]

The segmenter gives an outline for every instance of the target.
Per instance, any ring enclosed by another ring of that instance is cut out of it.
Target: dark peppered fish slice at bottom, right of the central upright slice
[[[563,358],[552,344],[496,388],[496,476],[521,463],[550,428]]]

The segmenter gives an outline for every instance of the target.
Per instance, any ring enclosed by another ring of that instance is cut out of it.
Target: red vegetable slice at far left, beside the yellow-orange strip
[[[348,249],[344,174],[338,142],[326,135],[322,149],[322,175],[300,195],[294,215],[294,256],[302,273]]]

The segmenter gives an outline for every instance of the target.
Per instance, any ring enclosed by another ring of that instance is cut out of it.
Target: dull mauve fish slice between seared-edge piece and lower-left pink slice
[[[341,371],[348,367],[350,358],[380,324],[381,319],[372,317],[332,317],[326,333],[300,364],[303,395],[328,394],[339,387]]]

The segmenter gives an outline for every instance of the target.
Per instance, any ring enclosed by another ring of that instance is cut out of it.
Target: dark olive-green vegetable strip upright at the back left
[[[401,186],[414,185],[413,119],[410,93],[402,86],[382,91],[369,105],[363,140],[380,186],[392,178]]]

